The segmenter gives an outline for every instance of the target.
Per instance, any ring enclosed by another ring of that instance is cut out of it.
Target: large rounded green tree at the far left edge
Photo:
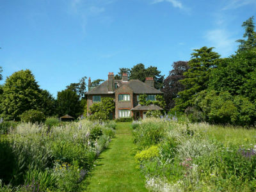
[[[40,109],[40,88],[30,70],[20,70],[7,77],[3,86],[1,108],[7,120],[19,120],[29,109]]]

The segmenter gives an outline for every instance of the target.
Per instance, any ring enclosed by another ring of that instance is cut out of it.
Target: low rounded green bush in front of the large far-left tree
[[[44,122],[45,120],[45,115],[43,112],[35,110],[35,109],[30,109],[28,111],[25,111],[20,115],[20,119],[22,122],[31,122],[32,124]]]

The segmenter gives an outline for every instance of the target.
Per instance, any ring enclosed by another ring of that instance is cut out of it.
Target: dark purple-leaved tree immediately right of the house
[[[187,72],[189,65],[187,61],[173,62],[173,70],[169,72],[169,76],[164,79],[162,92],[164,92],[164,100],[166,107],[171,109],[175,106],[175,98],[178,93],[184,91],[184,85],[179,80],[184,79],[184,72]]]

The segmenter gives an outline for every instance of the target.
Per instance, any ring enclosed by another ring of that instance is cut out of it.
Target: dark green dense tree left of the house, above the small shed
[[[79,95],[69,89],[58,92],[57,113],[59,116],[68,114],[75,118],[81,115],[83,113],[83,106],[81,106]]]

